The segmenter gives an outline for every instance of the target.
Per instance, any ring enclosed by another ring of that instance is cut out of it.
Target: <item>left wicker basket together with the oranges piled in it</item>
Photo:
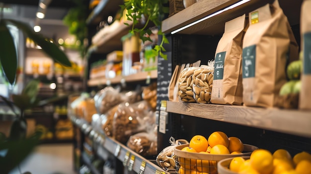
[[[250,156],[258,149],[243,144],[237,137],[229,137],[221,131],[213,132],[208,138],[195,135],[189,144],[174,148],[178,174],[217,174],[217,164],[223,159]]]

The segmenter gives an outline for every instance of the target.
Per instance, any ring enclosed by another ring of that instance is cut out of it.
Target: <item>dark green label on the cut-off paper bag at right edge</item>
[[[304,74],[311,74],[311,32],[304,34]]]

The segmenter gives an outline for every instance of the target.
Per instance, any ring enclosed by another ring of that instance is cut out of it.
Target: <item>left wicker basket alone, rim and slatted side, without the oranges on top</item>
[[[182,148],[187,146],[189,146],[189,144],[178,145],[174,148],[174,155],[177,157],[176,171],[178,174],[192,174],[195,172],[217,174],[217,163],[219,161],[233,157],[250,156],[254,150],[258,149],[256,146],[244,144],[244,152],[234,155],[215,155],[181,151]]]

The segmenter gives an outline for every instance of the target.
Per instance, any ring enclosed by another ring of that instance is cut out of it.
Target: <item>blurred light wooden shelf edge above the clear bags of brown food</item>
[[[124,82],[142,81],[142,80],[146,80],[148,76],[150,76],[151,79],[157,78],[157,70],[139,72],[139,73],[131,74],[128,76],[119,75],[113,79],[106,79],[105,77],[90,79],[87,81],[87,85],[98,86],[98,85],[117,84],[117,83],[124,83]]]

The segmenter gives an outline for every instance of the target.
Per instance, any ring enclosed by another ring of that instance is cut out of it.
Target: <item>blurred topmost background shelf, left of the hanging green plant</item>
[[[97,25],[100,21],[106,20],[108,15],[114,16],[124,4],[124,0],[101,0],[86,19],[88,25]]]

